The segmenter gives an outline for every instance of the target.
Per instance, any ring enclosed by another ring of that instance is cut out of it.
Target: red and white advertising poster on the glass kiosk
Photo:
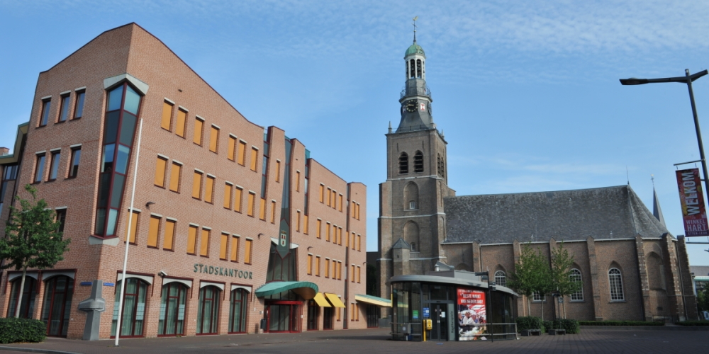
[[[485,292],[482,290],[458,289],[458,337],[459,341],[484,341],[487,313]]]

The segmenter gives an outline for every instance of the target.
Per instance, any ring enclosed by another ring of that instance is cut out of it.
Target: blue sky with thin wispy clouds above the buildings
[[[654,175],[667,228],[684,234],[673,165],[699,159],[687,87],[618,79],[707,69],[707,1],[0,0],[0,146],[29,120],[39,72],[135,22],[248,120],[367,185],[376,251],[414,16],[457,195],[630,183],[652,210]],[[693,89],[709,130],[709,77]],[[688,245],[692,265],[709,265],[705,249]]]

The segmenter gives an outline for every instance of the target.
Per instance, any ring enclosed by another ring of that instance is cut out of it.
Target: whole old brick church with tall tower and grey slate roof
[[[447,185],[447,142],[432,118],[425,59],[414,39],[404,55],[401,121],[386,134],[376,257],[382,297],[391,293],[391,277],[423,275],[436,265],[489,270],[491,280],[506,285],[520,244],[531,241],[548,258],[564,241],[583,285],[564,299],[569,318],[697,318],[684,238],[667,231],[657,198],[653,215],[630,185],[455,196]],[[535,296],[531,314],[540,316],[538,304],[547,300]],[[520,316],[528,315],[526,303],[520,297]],[[544,309],[551,319],[554,307]]]

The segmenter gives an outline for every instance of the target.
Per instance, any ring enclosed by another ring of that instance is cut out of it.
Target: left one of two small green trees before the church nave
[[[549,264],[539,249],[532,249],[527,243],[520,250],[520,258],[515,263],[515,270],[510,273],[510,288],[518,294],[527,297],[527,313],[531,311],[531,297],[535,292],[546,295],[551,288]],[[542,302],[542,319],[544,319],[544,302]]]

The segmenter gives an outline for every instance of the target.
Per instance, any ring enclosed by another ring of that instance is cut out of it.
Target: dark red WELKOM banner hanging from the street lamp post
[[[709,236],[699,169],[676,171],[685,236]]]

